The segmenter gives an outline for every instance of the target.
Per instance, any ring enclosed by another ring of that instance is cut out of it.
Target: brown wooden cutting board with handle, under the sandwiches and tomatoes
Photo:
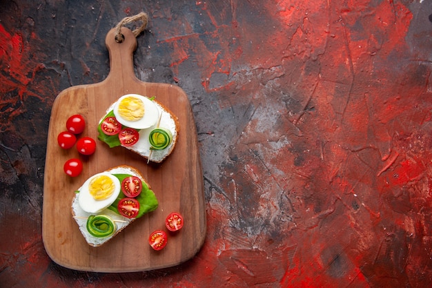
[[[177,86],[139,81],[133,68],[137,40],[128,28],[121,28],[121,32],[125,37],[121,44],[115,41],[115,29],[106,36],[110,52],[108,77],[97,84],[63,90],[52,106],[43,186],[43,244],[52,260],[70,269],[130,272],[171,267],[193,258],[206,236],[202,166],[188,97]],[[177,144],[161,164],[147,164],[144,158],[126,148],[108,148],[97,140],[99,119],[110,104],[129,93],[155,96],[179,119]],[[75,147],[63,150],[57,144],[57,135],[66,131],[66,119],[74,114],[86,119],[86,129],[79,137],[97,141],[93,155],[84,157]],[[79,157],[84,164],[78,177],[63,172],[63,164],[72,157]],[[135,167],[146,177],[159,207],[132,222],[101,247],[90,247],[72,218],[72,198],[91,175],[124,164]],[[168,233],[167,246],[154,251],[148,244],[148,236],[157,229],[167,231],[165,218],[172,211],[184,216],[184,227],[177,233]]]

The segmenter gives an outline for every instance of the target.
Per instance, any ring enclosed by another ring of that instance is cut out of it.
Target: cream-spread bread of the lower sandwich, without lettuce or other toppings
[[[135,176],[139,177],[141,179],[141,181],[144,182],[148,186],[148,189],[150,189],[150,185],[146,182],[146,180],[139,173],[139,171],[137,171],[137,169],[132,168],[130,166],[126,166],[126,165],[117,166],[117,167],[114,167],[112,169],[107,170],[106,172],[111,173],[111,174],[135,175]],[[81,189],[82,189],[82,186],[79,187],[79,189],[77,189],[77,191],[80,191]],[[153,191],[151,191],[151,193],[153,193]],[[156,205],[156,207],[157,207],[157,205]],[[154,209],[156,209],[156,207],[154,207]],[[81,233],[83,234],[87,243],[93,247],[98,247],[101,244],[108,242],[108,240],[114,238],[118,233],[123,231],[123,229],[125,229],[130,223],[132,223],[133,221],[135,221],[137,219],[137,218],[126,218],[122,215],[115,213],[114,211],[112,211],[108,208],[104,209],[103,211],[100,211],[99,213],[88,213],[88,212],[84,211],[83,209],[81,209],[81,207],[79,205],[79,193],[76,193],[76,195],[72,199],[71,211],[72,211],[72,217],[74,218],[74,220],[77,222],[77,224],[79,226],[79,231],[81,231]],[[108,215],[115,222],[115,224],[117,226],[116,231],[114,233],[112,233],[110,236],[106,236],[106,237],[99,238],[99,237],[92,236],[88,232],[87,227],[86,227],[87,219],[90,215]]]

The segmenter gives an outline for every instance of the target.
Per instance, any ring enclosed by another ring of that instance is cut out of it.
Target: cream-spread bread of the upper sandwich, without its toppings
[[[164,106],[164,104],[157,102],[157,100],[155,99],[153,99],[152,101],[156,104],[159,110],[160,120],[157,122],[157,124],[151,126],[150,128],[139,130],[138,142],[132,146],[124,146],[124,148],[127,148],[130,151],[139,154],[141,157],[146,158],[148,162],[151,161],[151,162],[161,163],[166,159],[166,157],[168,157],[173,152],[175,148],[175,144],[177,143],[177,138],[179,135],[179,121],[178,118],[168,108],[166,108],[166,106]],[[106,114],[104,115],[104,117],[101,117],[101,120],[99,121],[98,138],[102,142],[106,142],[110,147],[112,146],[110,145],[110,143],[108,143],[107,140],[108,138],[114,136],[107,137],[106,135],[104,135],[103,132],[101,132],[100,126],[101,123],[104,121],[104,119],[108,116],[108,113],[110,112],[112,113],[112,110],[116,103],[117,102],[114,102],[110,105],[110,107],[106,110]],[[166,128],[173,135],[173,140],[171,141],[171,143],[162,150],[150,150],[150,142],[148,140],[148,137],[150,135],[150,132],[154,128]]]

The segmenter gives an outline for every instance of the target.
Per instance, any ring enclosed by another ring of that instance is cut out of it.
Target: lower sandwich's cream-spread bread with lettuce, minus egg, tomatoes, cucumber
[[[137,215],[137,218],[141,217],[145,213],[157,209],[158,203],[157,203],[155,193],[153,193],[153,191],[150,189],[150,185],[146,182],[146,180],[139,173],[139,171],[137,171],[137,169],[132,168],[130,166],[122,165],[122,166],[114,167],[112,169],[108,169],[107,171],[104,172],[108,172],[112,175],[115,175],[115,177],[118,177],[119,180],[124,179],[125,177],[128,177],[130,175],[139,177],[139,179],[142,182],[143,188],[141,193],[136,197],[136,199],[139,200],[140,203],[139,215]],[[90,177],[89,180],[92,177]],[[119,182],[121,183],[121,181]],[[92,247],[99,247],[101,246],[101,244],[108,242],[108,240],[115,238],[115,236],[117,236],[118,233],[120,233],[126,227],[128,227],[130,223],[137,220],[137,218],[126,218],[123,215],[119,214],[119,212],[117,211],[117,203],[119,202],[119,200],[121,200],[122,198],[126,198],[126,195],[124,195],[124,193],[121,191],[119,192],[119,195],[117,196],[115,202],[113,202],[106,209],[102,209],[101,211],[98,211],[96,213],[90,213],[84,211],[84,209],[81,207],[82,204],[79,203],[79,197],[80,197],[79,195],[81,193],[81,190],[84,191],[83,190],[84,184],[83,186],[79,187],[79,189],[77,189],[76,191],[77,193],[75,197],[72,199],[72,205],[71,205],[72,217],[77,222],[79,230],[81,231],[82,235],[86,239],[86,242]],[[141,202],[145,202],[145,205],[142,205]],[[105,237],[93,236],[87,229],[88,218],[92,215],[108,216],[115,223],[115,227],[116,227],[115,231],[109,236],[105,236]]]

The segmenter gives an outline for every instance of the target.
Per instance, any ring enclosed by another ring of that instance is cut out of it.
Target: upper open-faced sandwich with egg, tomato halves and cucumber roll
[[[108,108],[98,131],[99,140],[110,148],[124,146],[160,163],[173,152],[179,125],[177,117],[155,99],[128,94]]]

